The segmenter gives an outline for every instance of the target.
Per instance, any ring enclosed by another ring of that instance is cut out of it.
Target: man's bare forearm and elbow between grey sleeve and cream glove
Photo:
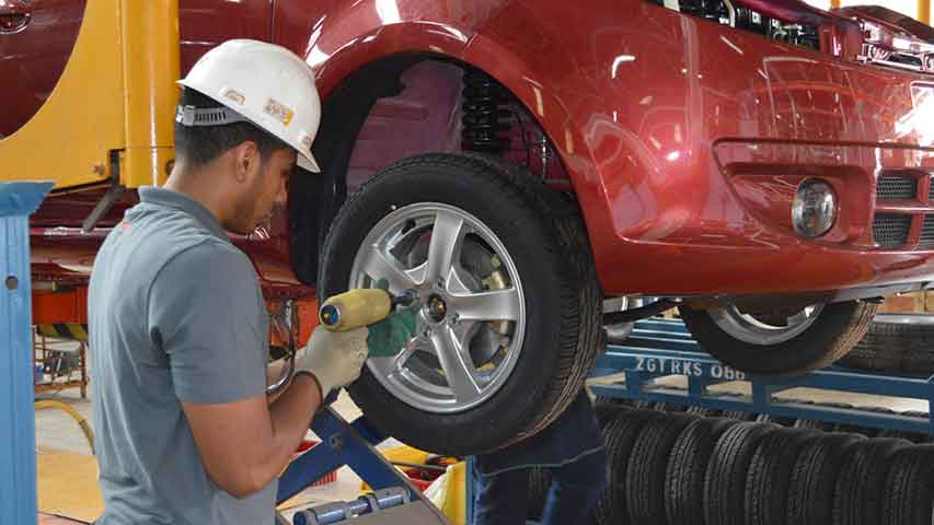
[[[288,465],[321,406],[316,381],[299,374],[272,405],[266,396],[233,402],[183,402],[205,469],[237,498],[261,490]]]

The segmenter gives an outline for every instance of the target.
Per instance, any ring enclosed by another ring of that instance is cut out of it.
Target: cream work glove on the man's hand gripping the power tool
[[[319,326],[296,355],[296,373],[314,376],[324,399],[334,388],[347,386],[360,376],[367,362],[367,329],[331,331]]]

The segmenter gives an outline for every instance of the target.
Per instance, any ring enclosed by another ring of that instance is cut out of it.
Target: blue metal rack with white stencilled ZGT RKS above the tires
[[[841,366],[787,377],[749,375],[704,352],[679,320],[638,322],[624,346],[607,347],[606,352],[598,358],[591,376],[620,373],[623,375],[622,381],[593,384],[590,390],[597,396],[934,434],[930,409],[934,399],[934,376],[875,374]],[[659,382],[672,375],[685,376],[688,387]],[[751,396],[712,392],[710,388],[734,381],[749,382]],[[910,416],[876,407],[775,398],[779,393],[799,387],[921,399],[927,401],[929,409],[925,416]]]

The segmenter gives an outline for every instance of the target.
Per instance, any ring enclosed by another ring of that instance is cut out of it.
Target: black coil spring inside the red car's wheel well
[[[505,89],[478,71],[464,72],[463,84],[461,147],[468,151],[505,153],[509,138],[504,133],[510,129],[506,120],[510,113],[501,108],[501,104],[508,103]]]

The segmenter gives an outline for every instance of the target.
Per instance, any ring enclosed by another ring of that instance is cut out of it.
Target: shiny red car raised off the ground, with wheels
[[[601,347],[601,296],[662,298],[723,361],[794,373],[849,351],[880,298],[934,280],[930,44],[866,10],[181,7],[185,70],[234,37],[314,68],[324,173],[293,177],[288,209],[237,242],[269,296],[417,294],[416,336],[350,388],[416,446],[489,451],[553,420]],[[82,8],[0,3],[0,133],[48,95]],[[101,197],[55,195],[34,217],[37,282],[85,278],[136,200],[81,234]]]

